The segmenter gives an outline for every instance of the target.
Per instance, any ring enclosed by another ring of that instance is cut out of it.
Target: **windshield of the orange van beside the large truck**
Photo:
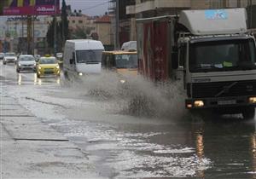
[[[137,68],[137,55],[115,55],[117,68]]]

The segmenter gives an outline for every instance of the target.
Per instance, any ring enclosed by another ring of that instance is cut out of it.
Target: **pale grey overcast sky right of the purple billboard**
[[[108,12],[108,0],[66,0],[66,3],[72,10],[81,9],[83,14],[102,15]]]

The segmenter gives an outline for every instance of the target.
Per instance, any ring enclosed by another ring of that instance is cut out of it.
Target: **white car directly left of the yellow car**
[[[16,71],[37,72],[37,62],[33,55],[20,55],[16,63]]]

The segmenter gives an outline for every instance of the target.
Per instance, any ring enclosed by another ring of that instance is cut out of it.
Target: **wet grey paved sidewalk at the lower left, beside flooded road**
[[[101,178],[86,153],[15,99],[0,95],[1,179]]]

